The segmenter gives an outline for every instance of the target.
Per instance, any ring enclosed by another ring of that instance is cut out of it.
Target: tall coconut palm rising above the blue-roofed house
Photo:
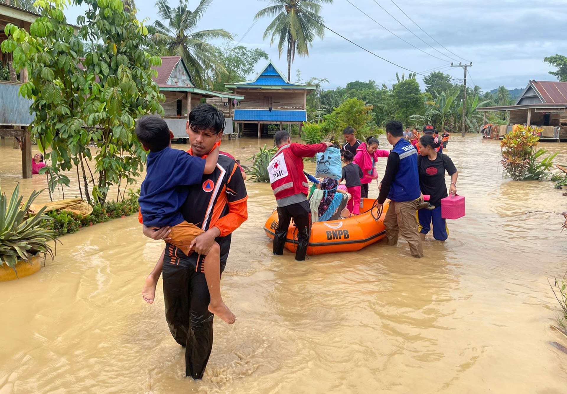
[[[264,16],[275,16],[272,23],[264,32],[264,39],[272,36],[270,45],[278,41],[280,57],[287,50],[287,81],[291,78],[291,62],[295,60],[295,53],[299,56],[309,56],[315,36],[322,39],[325,36],[323,18],[319,15],[321,4],[332,3],[333,0],[272,0],[274,5],[258,11],[255,20]]]

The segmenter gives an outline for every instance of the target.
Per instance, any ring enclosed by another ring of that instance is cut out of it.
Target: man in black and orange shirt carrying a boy
[[[194,107],[186,125],[189,154],[206,158],[219,145],[225,126],[222,112],[210,104]],[[194,240],[194,252],[185,255],[168,242],[171,228],[144,226],[143,234],[166,240],[163,260],[165,317],[175,341],[185,348],[185,375],[201,379],[213,347],[213,313],[208,310],[210,283],[204,270],[216,242],[220,247],[220,270],[225,269],[231,233],[248,218],[246,185],[235,161],[219,154],[213,173],[203,175],[202,184],[188,187],[189,195],[180,207],[185,221],[198,223],[205,231]],[[158,273],[159,277],[159,273]]]

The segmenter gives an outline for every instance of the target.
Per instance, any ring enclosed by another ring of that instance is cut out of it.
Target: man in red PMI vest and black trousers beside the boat
[[[291,143],[291,137],[285,130],[274,135],[278,151],[268,164],[270,184],[278,205],[278,227],[274,235],[273,253],[283,255],[287,229],[293,218],[298,230],[298,247],[295,260],[305,260],[311,231],[311,209],[307,200],[307,179],[303,173],[303,158],[324,152],[331,142],[302,145]]]

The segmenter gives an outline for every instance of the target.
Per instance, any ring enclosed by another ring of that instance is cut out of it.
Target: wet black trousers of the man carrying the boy
[[[166,250],[162,270],[166,321],[175,341],[185,346],[185,375],[201,379],[213,348],[209,289],[205,274],[197,270],[200,256],[187,257],[179,249],[173,250],[174,256]]]

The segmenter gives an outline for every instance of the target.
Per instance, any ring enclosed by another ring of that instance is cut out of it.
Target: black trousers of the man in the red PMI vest
[[[309,245],[309,235],[311,234],[311,209],[309,201],[298,202],[288,206],[278,207],[278,227],[274,236],[273,252],[274,255],[283,255],[286,241],[287,229],[293,218],[297,227],[297,250],[295,260],[305,260],[307,246]]]

